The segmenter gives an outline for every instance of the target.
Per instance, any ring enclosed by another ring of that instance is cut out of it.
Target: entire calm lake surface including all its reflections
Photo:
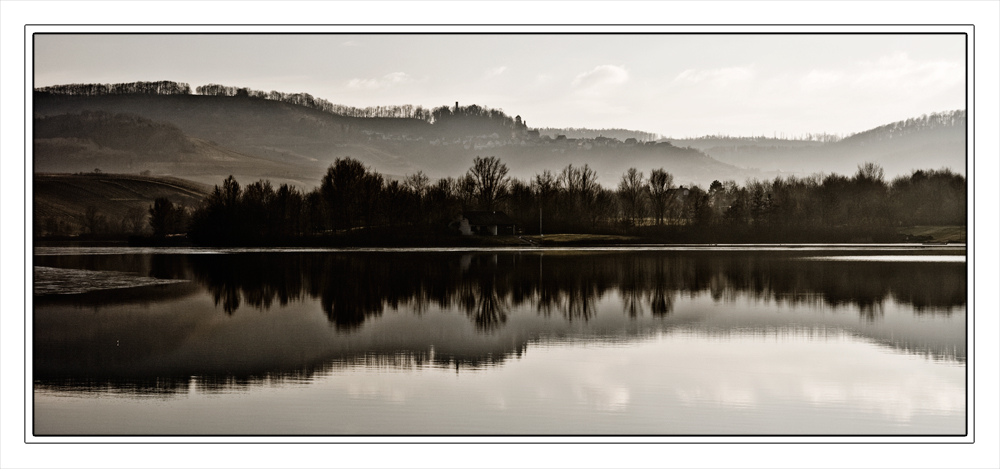
[[[43,435],[964,435],[964,248],[36,248]]]

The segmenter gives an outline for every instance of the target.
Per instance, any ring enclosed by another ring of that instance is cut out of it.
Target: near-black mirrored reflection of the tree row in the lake
[[[791,305],[854,307],[867,320],[892,299],[917,312],[966,302],[961,263],[824,262],[761,253],[239,253],[191,256],[195,277],[232,314],[318,298],[330,323],[351,330],[386,309],[464,312],[478,330],[512,309],[588,320],[616,293],[629,316],[669,315],[676,298],[708,294]]]

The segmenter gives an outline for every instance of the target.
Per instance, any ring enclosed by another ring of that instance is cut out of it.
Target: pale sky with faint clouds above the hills
[[[963,35],[36,35],[35,86],[171,80],[531,127],[847,134],[965,109]]]

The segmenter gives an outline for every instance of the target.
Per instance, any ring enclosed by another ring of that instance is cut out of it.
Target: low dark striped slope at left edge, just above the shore
[[[133,223],[148,230],[148,209],[157,198],[193,208],[212,189],[179,178],[130,174],[36,173],[33,180],[35,233],[46,235],[86,231],[88,209],[103,219],[99,231],[131,233]]]

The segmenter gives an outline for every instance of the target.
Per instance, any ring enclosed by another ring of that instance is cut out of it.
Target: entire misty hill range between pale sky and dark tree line
[[[390,179],[417,171],[432,178],[457,177],[476,156],[501,158],[510,174],[522,179],[586,164],[607,187],[615,186],[630,167],[646,174],[664,168],[680,184],[705,187],[713,180],[742,182],[780,174],[851,174],[865,161],[882,165],[890,177],[916,168],[950,167],[964,173],[964,111],[887,124],[839,142],[712,138],[657,143],[650,140],[658,135],[624,129],[533,130],[520,116],[512,118],[477,105],[456,103],[433,110],[354,108],[358,115],[394,117],[353,117],[332,112],[336,105],[304,94],[271,92],[277,93],[271,96],[223,87],[215,95],[196,95],[185,84],[171,83],[38,90],[36,121],[55,119],[54,123],[71,119],[60,116],[88,112],[131,115],[159,129],[167,144],[156,151],[123,148],[120,141],[115,143],[119,147],[109,146],[98,143],[107,136],[84,135],[83,127],[53,133],[46,130],[50,122],[41,122],[35,134],[36,171],[90,171],[98,167],[92,163],[109,161],[102,164],[116,165],[108,168],[114,171],[148,169],[205,183],[217,183],[229,171],[247,182],[269,178],[304,189],[318,184],[325,169],[345,157],[356,158]],[[143,91],[129,92],[133,88]],[[115,119],[111,122],[118,122]],[[116,125],[126,134],[135,131],[124,121]],[[547,138],[541,130],[568,133],[557,134],[566,135],[560,140]],[[595,132],[598,136],[591,135]]]

